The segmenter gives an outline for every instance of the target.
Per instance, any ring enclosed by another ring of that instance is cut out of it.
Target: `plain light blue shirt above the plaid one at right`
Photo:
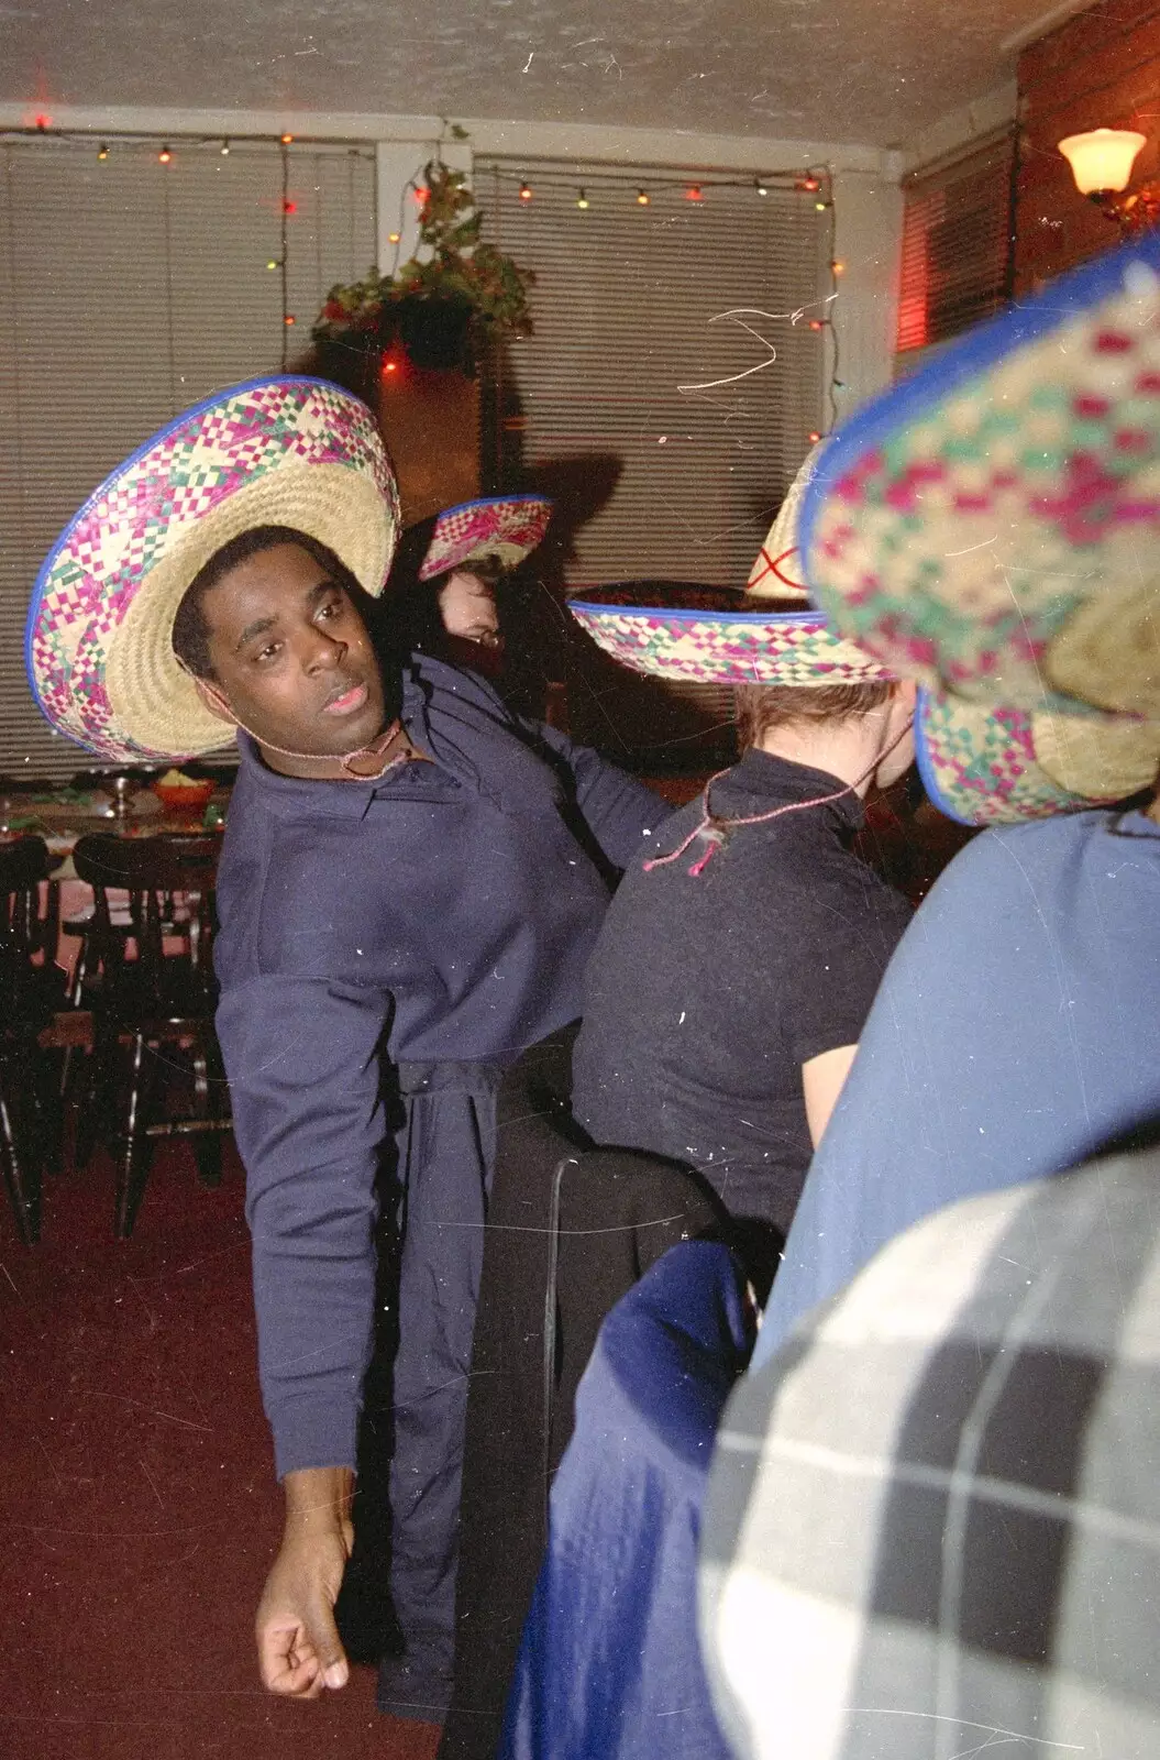
[[[1088,811],[968,843],[882,980],[759,1359],[914,1221],[1160,1116],[1156,994],[1160,824]]]

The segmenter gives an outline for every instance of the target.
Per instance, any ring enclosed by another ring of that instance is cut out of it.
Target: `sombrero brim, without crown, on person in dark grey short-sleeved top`
[[[723,588],[641,583],[569,598],[569,611],[613,660],[653,678],[692,685],[870,685],[892,678],[852,642],[838,641],[822,612]]]

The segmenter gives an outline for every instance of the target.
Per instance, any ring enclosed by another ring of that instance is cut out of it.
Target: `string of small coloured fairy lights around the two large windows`
[[[48,114],[39,114],[30,125],[21,128],[0,128],[0,141],[28,141],[30,137],[51,139],[62,144],[92,144],[95,158],[106,164],[113,151],[151,151],[158,165],[173,165],[178,158],[178,151],[173,141],[160,139],[157,134],[137,132],[137,130],[118,130],[118,132],[92,132],[92,130],[74,130],[74,128],[55,128],[53,118]],[[234,148],[241,146],[278,146],[282,151],[282,204],[280,204],[280,248],[276,257],[266,259],[266,268],[271,273],[282,276],[282,324],[283,331],[289,333],[296,324],[297,317],[289,308],[289,253],[290,253],[290,224],[297,213],[297,201],[290,188],[290,146],[299,148],[345,148],[352,150],[349,139],[333,136],[296,136],[289,130],[283,134],[224,134],[224,136],[197,136],[181,137],[181,151],[215,151],[222,158],[229,158]],[[516,185],[516,195],[521,206],[532,208],[537,197],[542,195],[560,195],[569,194],[579,215],[590,213],[593,208],[604,209],[616,202],[621,206],[630,206],[635,209],[650,209],[655,197],[676,192],[681,201],[690,208],[704,208],[713,202],[715,192],[723,190],[750,190],[757,201],[766,201],[775,194],[790,192],[804,201],[810,201],[811,208],[819,215],[829,216],[829,294],[820,299],[820,315],[804,317],[803,322],[810,331],[822,336],[829,334],[829,384],[826,392],[829,426],[838,421],[838,392],[843,391],[843,382],[840,378],[840,345],[838,331],[834,329],[833,317],[829,315],[833,301],[838,296],[838,282],[845,273],[845,264],[834,253],[836,243],[836,216],[834,216],[834,192],[833,192],[833,174],[827,165],[806,165],[794,169],[778,171],[755,171],[746,174],[697,174],[697,176],[669,176],[664,171],[639,172],[625,176],[625,172],[600,172],[597,169],[586,169],[581,176],[570,174],[565,167],[540,169],[533,176],[528,172],[500,167],[496,164],[486,164],[477,167],[486,169],[495,181],[509,181]],[[415,208],[422,208],[426,201],[426,188],[421,181],[421,172],[407,183],[401,192],[400,202],[400,222],[398,227],[387,232],[387,243],[394,248],[394,268],[398,268],[398,253],[405,232],[405,206],[414,202]],[[287,363],[289,336],[283,343],[283,366]],[[813,444],[820,440],[820,431],[811,431],[808,440]]]

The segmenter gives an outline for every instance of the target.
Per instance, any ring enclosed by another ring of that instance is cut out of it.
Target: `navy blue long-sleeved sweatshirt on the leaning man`
[[[352,1466],[370,1353],[380,1058],[514,1060],[572,1021],[625,868],[669,808],[484,679],[403,688],[435,762],[278,776],[241,741],[218,866],[218,1035],[246,1165],[278,1471]]]

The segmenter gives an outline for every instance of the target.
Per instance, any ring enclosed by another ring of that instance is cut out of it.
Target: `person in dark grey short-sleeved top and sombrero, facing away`
[[[665,824],[613,899],[574,1056],[576,1116],[597,1142],[692,1163],[736,1218],[759,1225],[748,1230],[755,1283],[773,1274],[910,919],[850,843],[866,792],[912,762],[915,692],[792,602],[782,570],[811,465],[762,547],[748,602],[731,595],[706,612],[607,595],[572,607],[641,669],[664,674],[672,660],[685,678],[759,679],[738,690],[741,762]]]

